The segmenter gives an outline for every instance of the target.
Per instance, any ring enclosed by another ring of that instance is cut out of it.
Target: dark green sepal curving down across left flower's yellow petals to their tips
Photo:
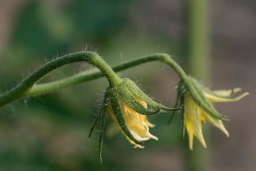
[[[115,114],[116,120],[117,120],[120,128],[122,129],[122,131],[125,133],[125,135],[127,135],[129,137],[129,139],[134,141],[136,144],[143,145],[144,144],[143,142],[137,141],[132,136],[131,132],[129,131],[129,129],[126,125],[126,122],[124,119],[124,114],[123,114],[123,111],[121,109],[121,104],[120,104],[121,97],[116,88],[112,88],[109,90],[109,99],[110,99],[112,110]]]

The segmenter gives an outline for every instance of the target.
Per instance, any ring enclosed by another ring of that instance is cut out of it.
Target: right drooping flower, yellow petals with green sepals
[[[183,124],[182,138],[184,138],[185,129],[187,129],[189,148],[191,150],[193,149],[194,136],[206,148],[206,142],[203,137],[203,124],[206,121],[229,137],[229,132],[223,125],[223,121],[228,121],[228,119],[217,112],[212,102],[238,101],[249,94],[246,92],[236,98],[231,98],[234,93],[241,91],[241,89],[210,91],[192,77],[188,77],[187,80],[180,82],[177,89],[177,104],[180,103],[183,106],[181,110]]]

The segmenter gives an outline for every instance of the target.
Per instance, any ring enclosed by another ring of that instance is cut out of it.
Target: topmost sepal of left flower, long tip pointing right
[[[170,111],[176,111],[176,110],[180,110],[180,108],[169,108],[166,107],[162,104],[159,104],[157,102],[155,102],[154,100],[152,100],[150,97],[147,96],[146,93],[144,93],[137,85],[135,82],[131,81],[128,78],[124,78],[123,79],[124,84],[127,86],[127,88],[129,89],[130,92],[132,92],[133,94],[135,94],[135,96],[139,97],[141,100],[143,100],[144,102],[146,102],[148,105],[154,107],[154,108],[160,108],[163,110],[170,110]]]

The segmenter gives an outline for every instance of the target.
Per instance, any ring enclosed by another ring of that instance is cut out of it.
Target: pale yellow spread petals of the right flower
[[[236,93],[240,90],[239,88],[233,90],[216,90],[214,93],[204,90],[203,94],[210,102],[232,102],[240,100],[249,93],[244,93],[237,98],[225,98],[224,96],[229,96],[229,94]],[[229,132],[227,132],[224,127],[222,120],[206,112],[202,107],[197,105],[193,98],[187,93],[185,94],[185,109],[185,125],[188,132],[189,148],[191,150],[193,149],[193,136],[196,136],[203,147],[206,148],[202,132],[202,124],[205,123],[205,120],[219,128],[229,137]]]

